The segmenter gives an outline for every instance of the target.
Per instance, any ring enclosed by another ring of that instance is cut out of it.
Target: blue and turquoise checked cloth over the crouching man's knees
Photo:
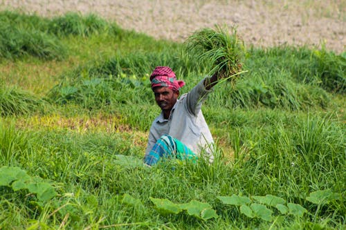
[[[170,135],[163,135],[156,141],[152,150],[144,158],[145,164],[156,164],[162,158],[165,159],[193,159],[197,156],[182,142]]]

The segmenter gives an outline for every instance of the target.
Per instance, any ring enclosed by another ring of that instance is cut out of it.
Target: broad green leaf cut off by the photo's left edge
[[[30,176],[19,167],[2,166],[0,168],[0,186],[9,186],[14,180],[29,180]]]

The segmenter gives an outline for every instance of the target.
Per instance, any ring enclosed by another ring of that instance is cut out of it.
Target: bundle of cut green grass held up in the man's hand
[[[207,65],[210,75],[218,73],[219,77],[235,82],[244,73],[244,42],[235,27],[231,31],[226,26],[216,26],[215,30],[202,28],[188,37],[185,44],[188,55],[197,58],[198,64]]]

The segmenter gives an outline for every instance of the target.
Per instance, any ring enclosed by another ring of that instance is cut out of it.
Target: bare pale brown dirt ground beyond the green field
[[[237,26],[246,44],[295,44],[344,52],[345,0],[0,0],[0,10],[46,17],[73,11],[94,13],[122,28],[158,39],[184,41],[215,24]]]

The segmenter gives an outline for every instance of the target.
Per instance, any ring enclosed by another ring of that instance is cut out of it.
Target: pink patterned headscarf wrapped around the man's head
[[[185,85],[185,82],[176,79],[175,73],[168,66],[157,66],[150,75],[150,82],[152,82],[152,88],[163,86],[173,91],[177,91]]]

